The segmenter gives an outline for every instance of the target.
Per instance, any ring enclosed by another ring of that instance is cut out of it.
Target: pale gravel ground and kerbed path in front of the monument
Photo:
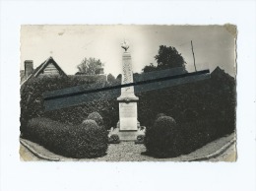
[[[204,158],[210,154],[213,154],[220,150],[225,144],[234,139],[234,134],[230,134],[226,137],[220,138],[212,143],[207,144],[203,148],[192,152],[186,156],[180,156],[178,158],[170,158],[170,159],[155,159],[152,157],[141,155],[141,153],[146,152],[146,148],[144,145],[135,145],[133,142],[122,142],[116,145],[109,145],[107,150],[107,155],[97,159],[70,159],[64,158],[62,156],[55,155],[38,144],[32,143],[31,141],[24,140],[36,153],[41,156],[45,156],[47,158],[52,159],[60,159],[64,161],[69,160],[81,160],[81,161],[184,161],[184,160],[192,160],[197,158]],[[36,158],[34,155],[30,154],[31,152],[21,145],[21,158],[23,160],[41,160]],[[209,159],[210,161],[235,161],[236,152],[235,152],[235,143],[232,144],[229,149],[224,152],[221,157],[217,159]]]

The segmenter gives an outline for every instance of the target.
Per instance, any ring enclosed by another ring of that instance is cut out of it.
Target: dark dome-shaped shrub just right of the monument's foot
[[[175,120],[169,116],[161,116],[154,126],[146,131],[146,153],[156,158],[177,157],[181,155],[180,139]]]

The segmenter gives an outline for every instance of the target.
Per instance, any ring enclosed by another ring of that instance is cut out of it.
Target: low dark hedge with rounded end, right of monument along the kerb
[[[187,155],[234,131],[228,120],[203,120],[176,124],[169,116],[160,116],[145,136],[146,155],[174,158]]]

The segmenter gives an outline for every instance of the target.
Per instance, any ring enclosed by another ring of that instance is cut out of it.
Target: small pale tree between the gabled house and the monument
[[[87,74],[87,75],[96,75],[99,74],[102,63],[99,59],[96,58],[85,58],[78,66],[79,72],[76,75]]]

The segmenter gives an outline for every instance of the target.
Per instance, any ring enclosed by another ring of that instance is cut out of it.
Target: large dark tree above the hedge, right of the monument
[[[155,59],[158,63],[158,66],[154,66],[151,63],[149,66],[144,67],[144,72],[152,72],[177,67],[182,67],[184,71],[186,71],[186,62],[175,47],[160,45],[159,54],[155,56]]]

